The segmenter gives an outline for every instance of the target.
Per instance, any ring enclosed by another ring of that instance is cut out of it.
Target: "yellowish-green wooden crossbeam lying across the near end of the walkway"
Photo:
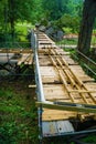
[[[61,110],[61,111],[74,111],[74,112],[84,112],[84,113],[96,113],[96,105],[88,104],[75,104],[67,102],[36,102],[36,106],[46,107],[51,110]]]

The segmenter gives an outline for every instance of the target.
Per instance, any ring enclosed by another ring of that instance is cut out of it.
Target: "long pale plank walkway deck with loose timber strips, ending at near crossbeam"
[[[42,121],[96,119],[96,83],[68,52],[44,33],[38,33],[39,63],[44,97]],[[62,111],[63,110],[63,111]]]

